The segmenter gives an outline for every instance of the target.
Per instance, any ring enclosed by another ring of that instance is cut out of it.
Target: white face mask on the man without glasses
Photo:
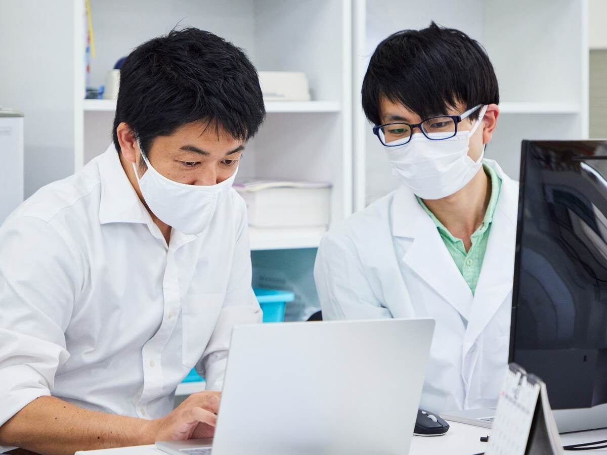
[[[141,150],[139,141],[137,144]],[[141,157],[148,170],[139,178],[135,164],[133,169],[146,204],[163,223],[184,234],[199,234],[206,229],[217,203],[232,187],[238,171],[236,169],[232,177],[216,185],[187,185],[164,177],[152,167],[143,152]]]

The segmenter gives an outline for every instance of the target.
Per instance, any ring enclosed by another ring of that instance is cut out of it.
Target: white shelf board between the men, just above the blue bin
[[[325,227],[249,227],[251,250],[317,248]]]

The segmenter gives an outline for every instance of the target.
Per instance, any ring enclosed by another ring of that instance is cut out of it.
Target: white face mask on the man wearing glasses
[[[415,133],[402,146],[385,147],[395,175],[422,199],[441,199],[461,190],[483,164],[484,144],[476,162],[468,156],[468,150],[470,136],[478,129],[486,111],[487,106],[483,106],[472,129],[458,131],[452,138],[432,141],[422,133]]]

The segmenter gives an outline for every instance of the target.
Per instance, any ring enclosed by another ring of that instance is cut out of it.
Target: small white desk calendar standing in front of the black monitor
[[[546,385],[511,363],[498,400],[487,455],[562,454]]]

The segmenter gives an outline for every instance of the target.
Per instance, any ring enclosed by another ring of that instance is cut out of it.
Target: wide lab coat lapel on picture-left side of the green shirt
[[[410,190],[401,187],[392,203],[393,234],[412,238],[402,260],[459,314],[468,318],[472,292],[447,251],[435,224]],[[423,298],[422,296],[411,296]],[[428,305],[428,302],[424,302]]]

